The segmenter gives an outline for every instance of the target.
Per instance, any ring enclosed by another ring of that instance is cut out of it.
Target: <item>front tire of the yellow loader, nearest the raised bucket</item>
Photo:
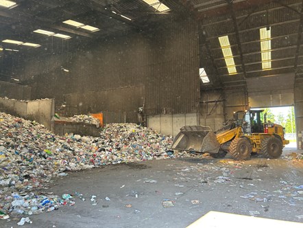
[[[230,155],[237,160],[245,160],[250,157],[252,153],[252,144],[250,139],[237,138],[232,140],[229,148]]]

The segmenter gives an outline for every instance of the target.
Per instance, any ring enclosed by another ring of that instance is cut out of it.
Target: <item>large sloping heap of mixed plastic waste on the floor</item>
[[[31,215],[73,205],[41,192],[53,176],[107,164],[167,159],[172,139],[136,124],[108,124],[98,138],[54,135],[43,125],[0,113],[0,210]],[[40,192],[39,192],[40,191]]]

